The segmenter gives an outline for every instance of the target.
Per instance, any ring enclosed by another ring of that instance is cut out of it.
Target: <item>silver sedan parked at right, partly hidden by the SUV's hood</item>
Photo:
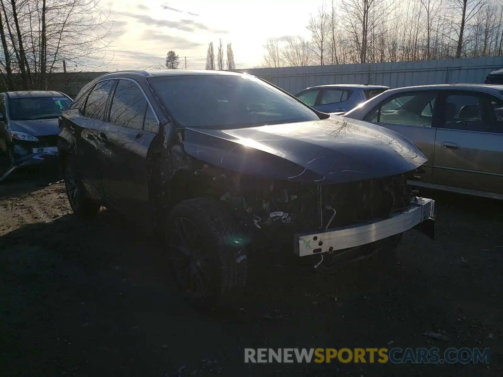
[[[409,182],[503,200],[503,85],[389,89],[347,112],[415,143],[428,162]]]

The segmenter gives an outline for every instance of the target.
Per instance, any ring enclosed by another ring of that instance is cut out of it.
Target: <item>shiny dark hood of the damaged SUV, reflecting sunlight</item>
[[[380,178],[427,161],[412,142],[392,130],[333,115],[233,130],[186,128],[184,148],[215,166],[301,182]]]

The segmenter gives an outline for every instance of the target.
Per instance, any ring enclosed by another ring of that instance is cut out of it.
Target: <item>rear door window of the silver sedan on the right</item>
[[[484,95],[463,93],[447,96],[443,126],[455,130],[491,132],[493,122],[484,111],[487,105],[488,99]]]

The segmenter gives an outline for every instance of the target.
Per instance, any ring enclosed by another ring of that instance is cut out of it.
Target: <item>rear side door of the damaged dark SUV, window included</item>
[[[86,95],[75,101],[61,118],[62,128],[75,140],[75,155],[80,176],[88,191],[102,196],[97,153],[98,129],[103,125],[105,109],[115,80],[98,82]]]

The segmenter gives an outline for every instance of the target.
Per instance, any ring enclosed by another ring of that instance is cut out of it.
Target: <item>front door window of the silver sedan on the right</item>
[[[368,122],[432,127],[435,92],[420,92],[386,99],[363,120]]]

